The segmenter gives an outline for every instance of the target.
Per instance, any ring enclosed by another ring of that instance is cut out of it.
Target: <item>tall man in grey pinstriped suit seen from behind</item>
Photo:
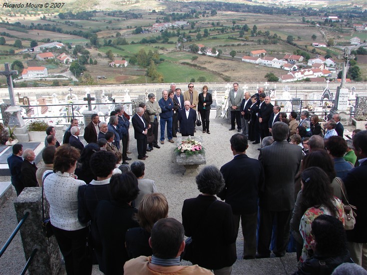
[[[274,143],[260,149],[259,160],[264,167],[265,184],[260,190],[260,224],[257,258],[270,256],[270,240],[276,219],[276,245],[273,253],[284,256],[289,239],[289,221],[294,206],[294,176],[302,157],[300,146],[287,142],[289,127],[284,122],[272,125]]]

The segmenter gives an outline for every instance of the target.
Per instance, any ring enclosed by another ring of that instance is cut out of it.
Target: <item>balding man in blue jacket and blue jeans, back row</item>
[[[159,106],[161,107],[161,144],[164,144],[164,128],[167,123],[167,138],[168,141],[174,143],[172,139],[172,116],[173,116],[173,101],[168,97],[168,91],[162,91],[162,98],[159,99]]]

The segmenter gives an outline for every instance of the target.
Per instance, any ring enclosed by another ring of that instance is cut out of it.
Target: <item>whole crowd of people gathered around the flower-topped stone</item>
[[[295,274],[331,274],[347,262],[366,269],[367,131],[355,130],[345,141],[339,114],[326,131],[307,111],[300,123],[296,112],[287,119],[262,88],[242,96],[233,84],[228,97],[230,130],[236,125],[238,130],[228,144],[233,159],[220,169],[202,168],[196,176],[200,194],[183,201],[182,224],[168,217],[163,190],[145,178],[141,160],[160,148],[158,119],[160,144],[166,128],[169,142],[177,132],[194,135],[196,108],[203,133],[210,133],[208,87],[200,94],[193,83],[188,88],[182,95],[172,83],[159,102],[150,93],[139,104],[131,117],[139,160],[130,165],[130,117],[121,106],[108,123],[92,115],[84,132],[87,145],[79,138],[77,119],[62,145],[50,126],[45,167],[37,168],[33,150],[13,146],[12,183],[18,195],[24,187],[44,186],[67,273],[91,274],[92,264],[99,264],[105,274],[231,274],[239,224],[243,259],[296,251]],[[261,141],[258,159],[247,156],[249,141]],[[343,203],[356,206],[352,229],[343,227]],[[180,265],[182,258],[194,265]]]

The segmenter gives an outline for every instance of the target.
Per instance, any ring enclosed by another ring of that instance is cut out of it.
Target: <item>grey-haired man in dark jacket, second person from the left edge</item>
[[[24,187],[36,187],[38,186],[36,171],[37,166],[35,163],[36,154],[35,152],[28,148],[23,152],[24,161],[22,163],[22,179]]]

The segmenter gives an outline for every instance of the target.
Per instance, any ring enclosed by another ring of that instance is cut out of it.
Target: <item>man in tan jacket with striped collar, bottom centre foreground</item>
[[[158,220],[149,238],[152,256],[140,256],[124,265],[125,275],[135,274],[213,274],[199,265],[180,265],[180,256],[185,249],[183,225],[172,217]]]

